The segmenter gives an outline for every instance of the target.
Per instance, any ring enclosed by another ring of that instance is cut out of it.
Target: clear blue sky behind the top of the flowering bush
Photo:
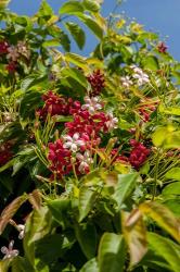
[[[12,0],[9,8],[18,14],[34,14],[41,0]],[[57,12],[65,0],[48,0],[51,7]],[[116,0],[104,0],[103,15],[107,15],[115,7]],[[129,17],[134,17],[138,23],[143,24],[146,29],[160,34],[162,39],[168,36],[167,45],[170,53],[180,61],[180,0],[126,0],[118,12],[126,12]],[[94,38],[93,38],[94,39]],[[88,34],[85,54],[88,54],[95,41]],[[77,51],[73,45],[73,51]]]

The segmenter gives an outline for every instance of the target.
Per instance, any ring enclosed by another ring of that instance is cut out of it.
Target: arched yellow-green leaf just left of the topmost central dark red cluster
[[[83,88],[88,88],[88,82],[87,78],[85,77],[85,75],[78,71],[77,69],[63,69],[61,71],[61,75],[63,77],[72,77],[74,78],[76,82],[78,82]]]

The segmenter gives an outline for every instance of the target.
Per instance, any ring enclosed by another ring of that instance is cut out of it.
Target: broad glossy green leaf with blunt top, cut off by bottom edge
[[[104,233],[98,254],[99,272],[123,272],[126,246],[123,235]]]

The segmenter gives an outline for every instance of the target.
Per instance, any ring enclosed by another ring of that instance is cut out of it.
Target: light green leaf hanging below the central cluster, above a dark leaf
[[[82,221],[92,209],[95,199],[95,191],[88,187],[79,190],[79,222]]]

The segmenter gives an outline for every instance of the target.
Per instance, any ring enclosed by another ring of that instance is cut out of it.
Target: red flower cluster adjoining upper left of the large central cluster
[[[67,101],[65,98],[55,95],[53,91],[48,91],[48,94],[42,96],[42,100],[44,101],[44,107],[39,110],[39,114],[42,118],[46,118],[48,113],[53,115],[70,115],[80,109],[79,101],[73,101],[69,98]]]

